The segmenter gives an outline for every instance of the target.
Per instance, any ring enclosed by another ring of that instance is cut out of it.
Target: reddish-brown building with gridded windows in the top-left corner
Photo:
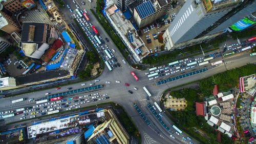
[[[7,0],[3,2],[2,5],[11,13],[25,9],[20,0]]]

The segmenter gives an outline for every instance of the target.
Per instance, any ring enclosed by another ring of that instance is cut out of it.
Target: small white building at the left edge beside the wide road
[[[16,79],[13,77],[0,78],[0,90],[10,90],[16,87]]]

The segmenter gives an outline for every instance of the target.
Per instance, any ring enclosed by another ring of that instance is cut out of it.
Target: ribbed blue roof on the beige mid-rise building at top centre
[[[142,3],[139,6],[137,6],[135,9],[138,12],[140,18],[144,18],[144,17],[146,17],[148,15],[151,15],[152,13],[156,12],[156,10],[154,9],[154,6],[151,3],[151,1],[147,1],[145,3]]]

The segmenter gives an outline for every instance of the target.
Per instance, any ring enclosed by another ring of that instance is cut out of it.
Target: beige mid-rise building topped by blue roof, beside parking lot
[[[152,0],[138,5],[134,9],[134,19],[138,28],[143,28],[168,12],[171,0]]]

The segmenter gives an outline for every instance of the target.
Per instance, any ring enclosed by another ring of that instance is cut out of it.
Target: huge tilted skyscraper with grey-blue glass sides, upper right
[[[254,11],[255,0],[186,1],[163,35],[165,46],[173,50],[214,38]]]

